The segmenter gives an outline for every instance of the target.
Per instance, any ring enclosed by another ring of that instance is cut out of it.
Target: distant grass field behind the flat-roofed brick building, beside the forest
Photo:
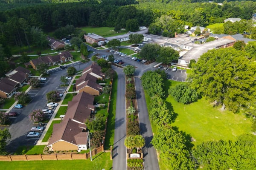
[[[90,26],[87,26],[87,27],[82,27],[80,29],[86,31],[87,33],[94,33],[94,34],[100,35],[102,37],[111,37],[114,35],[122,35],[122,34],[127,33],[127,31],[122,31],[122,32],[116,33],[114,31],[114,27],[90,27]]]

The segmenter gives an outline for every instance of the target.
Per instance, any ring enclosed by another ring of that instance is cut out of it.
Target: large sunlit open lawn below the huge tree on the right
[[[180,82],[169,81],[171,87]],[[166,98],[167,106],[173,107],[177,119],[172,126],[179,127],[190,134],[197,145],[211,140],[235,140],[236,136],[250,133],[251,122],[241,114],[231,111],[220,111],[213,107],[208,100],[202,98],[189,105],[178,103],[172,96]]]

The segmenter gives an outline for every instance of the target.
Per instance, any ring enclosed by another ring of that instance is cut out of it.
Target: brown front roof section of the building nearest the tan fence
[[[88,132],[85,131],[85,126],[72,119],[64,119],[63,122],[53,125],[52,137],[49,140],[49,145],[60,140],[71,144],[87,144]]]

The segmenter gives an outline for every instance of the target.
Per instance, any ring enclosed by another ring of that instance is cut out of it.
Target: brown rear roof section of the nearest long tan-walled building
[[[91,111],[95,109],[93,105],[94,96],[81,92],[68,102],[67,113],[64,119],[73,119],[77,122],[85,123]]]

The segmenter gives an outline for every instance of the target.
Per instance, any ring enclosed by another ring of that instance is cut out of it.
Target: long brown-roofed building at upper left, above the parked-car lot
[[[61,64],[73,59],[73,55],[69,51],[62,51],[58,55],[55,56],[43,56],[38,57],[37,59],[32,59],[29,63],[36,70],[36,65],[44,62],[48,66]]]

